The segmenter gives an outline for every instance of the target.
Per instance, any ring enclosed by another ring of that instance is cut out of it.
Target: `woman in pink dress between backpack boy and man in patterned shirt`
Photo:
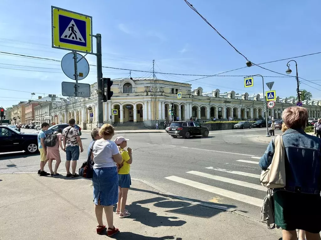
[[[60,148],[65,151],[65,149],[62,147],[61,139],[62,139],[62,131],[61,129],[58,129],[57,131],[57,138],[58,141],[56,142],[56,145],[54,147],[47,147],[47,158],[48,160],[48,167],[50,170],[50,175],[52,177],[60,177],[61,174],[57,173],[57,169],[59,167],[59,164],[61,163],[60,153],[59,153],[59,146]],[[56,159],[56,165],[55,165],[55,171],[52,171],[52,160]]]

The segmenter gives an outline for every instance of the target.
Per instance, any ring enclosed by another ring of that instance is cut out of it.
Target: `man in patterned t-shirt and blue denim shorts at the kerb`
[[[70,118],[69,126],[62,132],[64,147],[66,149],[66,177],[76,178],[79,175],[76,173],[77,160],[79,159],[79,146],[80,152],[83,151],[82,142],[79,136],[79,130],[75,128],[74,118]],[[73,160],[71,165],[72,174],[70,173],[70,161]]]

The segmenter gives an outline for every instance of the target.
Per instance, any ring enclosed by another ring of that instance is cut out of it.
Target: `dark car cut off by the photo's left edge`
[[[23,133],[8,126],[0,126],[0,152],[38,151],[38,134]]]

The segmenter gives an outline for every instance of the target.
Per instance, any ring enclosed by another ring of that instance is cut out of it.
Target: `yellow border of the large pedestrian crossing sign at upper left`
[[[70,18],[74,19],[79,19],[83,20],[86,22],[86,40],[87,40],[87,46],[77,46],[74,44],[68,44],[68,43],[61,43],[59,41],[59,24],[58,24],[58,19],[59,15],[64,15]],[[64,47],[64,48],[69,48],[71,50],[79,50],[79,51],[84,51],[84,52],[91,52],[91,19],[82,15],[78,15],[72,12],[66,12],[63,10],[58,10],[55,9],[53,10],[53,24],[54,24],[54,45],[56,47]]]

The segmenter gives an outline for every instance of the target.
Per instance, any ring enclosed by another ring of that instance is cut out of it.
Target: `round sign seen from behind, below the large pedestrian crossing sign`
[[[75,80],[75,62],[74,62],[74,53],[67,53],[61,60],[61,68],[65,75],[73,80]],[[82,80],[89,73],[89,64],[88,61],[79,53],[77,53],[77,73],[78,79]]]

